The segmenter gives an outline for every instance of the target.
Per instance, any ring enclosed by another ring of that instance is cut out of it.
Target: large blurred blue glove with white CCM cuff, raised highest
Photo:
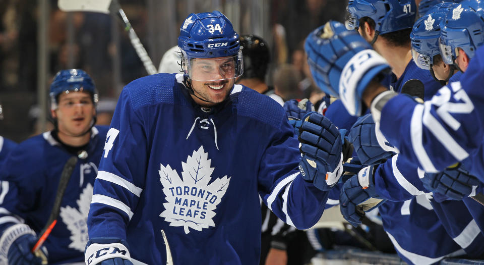
[[[362,114],[361,95],[370,81],[380,81],[390,71],[387,61],[358,32],[336,21],[311,32],[305,50],[316,84],[340,97],[353,116]]]

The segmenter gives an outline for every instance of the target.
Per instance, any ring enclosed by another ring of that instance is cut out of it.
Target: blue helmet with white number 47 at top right
[[[359,20],[369,17],[379,34],[412,28],[417,11],[414,0],[349,0],[346,9],[347,29],[358,28]]]

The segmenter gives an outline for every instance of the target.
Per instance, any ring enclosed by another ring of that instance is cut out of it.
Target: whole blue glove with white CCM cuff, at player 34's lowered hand
[[[120,238],[91,238],[84,251],[87,265],[133,265],[128,242]]]

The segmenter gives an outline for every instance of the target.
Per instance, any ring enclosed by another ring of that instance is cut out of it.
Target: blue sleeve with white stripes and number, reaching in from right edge
[[[460,81],[442,87],[423,104],[405,95],[390,99],[380,130],[406,158],[426,172],[439,172],[477,151],[484,136],[484,47]]]

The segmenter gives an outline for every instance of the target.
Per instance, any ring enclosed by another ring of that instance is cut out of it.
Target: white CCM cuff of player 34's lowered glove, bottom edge
[[[128,247],[122,243],[98,244],[89,240],[84,253],[84,261],[87,265],[95,265],[103,260],[116,257],[131,261]]]

